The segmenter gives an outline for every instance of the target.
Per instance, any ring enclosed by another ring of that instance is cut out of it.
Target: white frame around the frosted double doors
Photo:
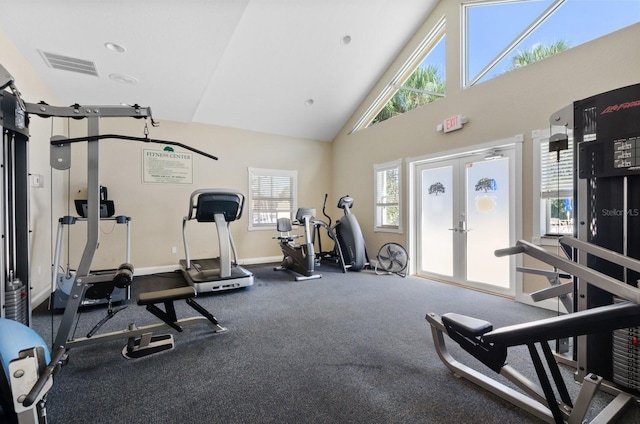
[[[487,143],[477,144],[474,146],[469,146],[465,148],[459,148],[454,150],[449,150],[446,152],[434,153],[425,156],[411,157],[406,158],[405,162],[407,164],[407,193],[408,196],[408,222],[409,222],[409,231],[408,231],[408,246],[409,246],[409,257],[415,258],[417,257],[418,247],[418,199],[419,194],[417,193],[418,180],[419,177],[417,173],[417,167],[419,165],[423,165],[429,162],[437,162],[446,159],[453,159],[461,156],[469,156],[473,154],[483,154],[489,152],[493,149],[504,148],[504,147],[513,147],[515,149],[515,198],[513,199],[513,205],[515,207],[515,234],[512,235],[513,242],[515,243],[517,240],[522,239],[522,143],[524,141],[524,137],[522,134],[515,135],[510,138],[495,140]],[[508,247],[508,246],[505,246]],[[521,266],[522,264],[522,255],[513,255],[510,257],[511,264],[511,275],[514,279],[514,289],[515,289],[515,299],[521,302],[526,302],[525,295],[522,291],[522,275],[521,273],[516,272],[516,267]],[[409,272],[415,274],[417,272],[416,261],[409,261]]]

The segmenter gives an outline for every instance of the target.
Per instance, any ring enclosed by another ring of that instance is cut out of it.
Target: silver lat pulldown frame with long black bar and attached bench
[[[35,108],[36,105],[33,105]],[[27,111],[32,106],[27,104]],[[152,292],[152,294],[140,295],[138,302],[140,304],[149,305],[150,303],[162,302],[168,310],[166,316],[160,317],[164,323],[151,324],[137,328],[131,324],[129,328],[111,333],[97,334],[99,328],[112,318],[115,313],[121,309],[111,308],[111,296],[116,288],[127,289],[131,284],[134,275],[134,268],[129,263],[120,265],[117,269],[106,273],[95,273],[91,271],[91,263],[99,245],[100,219],[101,219],[101,187],[100,187],[100,160],[99,160],[99,142],[103,139],[123,139],[133,141],[143,141],[149,143],[159,143],[180,146],[186,150],[201,154],[211,159],[217,159],[215,156],[201,152],[192,147],[183,145],[173,141],[155,140],[148,137],[147,126],[145,124],[145,137],[131,137],[116,134],[99,134],[99,123],[101,118],[105,117],[132,117],[132,118],[149,118],[152,126],[154,123],[151,118],[151,110],[142,108],[138,105],[134,106],[80,106],[73,105],[70,107],[51,107],[49,105],[39,104],[34,109],[42,117],[72,117],[74,119],[87,119],[88,135],[86,137],[65,138],[62,136],[53,136],[51,138],[51,166],[54,169],[65,170],[71,167],[71,144],[77,142],[87,142],[87,204],[86,204],[86,220],[87,220],[87,243],[85,245],[80,264],[77,267],[75,275],[75,283],[69,293],[69,298],[64,310],[58,333],[53,344],[53,349],[60,348],[65,351],[76,346],[84,346],[88,344],[100,343],[114,339],[129,339],[127,346],[130,349],[127,353],[136,352],[127,357],[141,357],[145,354],[156,353],[161,351],[158,346],[158,339],[154,339],[152,333],[154,331],[173,329],[178,330],[183,326],[203,322],[213,327],[215,333],[226,331],[224,327],[218,324],[217,319],[213,315],[206,312],[199,305],[194,307],[201,316],[184,318],[178,320],[175,314],[171,313],[174,300],[190,299],[189,304],[195,304],[193,297],[196,296],[195,291],[191,287],[183,290],[161,290]],[[84,211],[83,207],[83,211]],[[189,292],[187,293],[187,290]],[[73,324],[78,316],[78,309],[84,297],[88,298],[106,298],[108,302],[107,316],[103,318],[86,337],[75,338],[72,335]],[[142,300],[141,300],[142,299]],[[158,302],[153,302],[158,300]],[[193,305],[192,305],[193,306]],[[167,345],[173,345],[172,337],[165,336],[164,341]],[[170,348],[170,347],[169,347]],[[166,349],[165,349],[166,350]]]

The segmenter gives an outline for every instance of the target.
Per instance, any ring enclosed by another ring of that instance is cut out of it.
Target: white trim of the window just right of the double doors
[[[545,236],[544,229],[546,224],[543,222],[544,216],[541,213],[542,193],[540,192],[540,184],[542,176],[540,173],[540,167],[542,164],[542,158],[540,157],[540,143],[548,141],[552,134],[565,133],[567,130],[565,127],[553,126],[547,129],[534,130],[531,132],[531,138],[533,139],[533,232],[531,242],[540,246],[557,246],[557,236]],[[572,139],[572,131],[569,131],[569,140]]]

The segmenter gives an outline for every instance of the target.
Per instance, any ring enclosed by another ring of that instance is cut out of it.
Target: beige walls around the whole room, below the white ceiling
[[[448,18],[447,97],[374,127],[348,134],[355,120],[391,78],[396,66],[406,60],[443,15]],[[151,129],[152,138],[180,141],[220,157],[217,162],[195,157],[193,184],[176,186],[142,184],[141,152],[149,147],[146,144],[102,142],[101,182],[109,188],[117,213],[132,217],[132,262],[136,268],[150,270],[177,265],[183,257],[180,228],[182,217],[187,213],[189,194],[203,187],[236,188],[246,193],[248,167],[297,169],[299,205],[320,210],[324,193],[329,192],[329,211],[333,216],[338,213],[333,207],[335,200],[343,194],[353,196],[356,201],[354,212],[361,223],[370,253],[375,254],[387,241],[406,244],[406,184],[403,193],[404,233],[373,232],[373,165],[473,146],[515,134],[525,136],[521,168],[524,187],[522,236],[530,240],[533,207],[531,131],[546,128],[549,115],[574,100],[640,82],[640,25],[463,90],[459,87],[457,71],[460,56],[457,48],[460,34],[458,16],[458,2],[441,2],[425,22],[423,31],[399,55],[394,66],[384,74],[333,143],[198,124],[161,122],[159,128]],[[58,104],[1,31],[0,49],[3,52],[2,64],[16,78],[26,101],[45,100],[50,104]],[[100,104],[100,99],[95,99],[95,103]],[[148,106],[153,109],[153,105]],[[463,130],[450,134],[436,132],[438,123],[455,114],[469,118]],[[34,296],[40,299],[46,297],[50,284],[55,222],[59,216],[67,213],[66,200],[82,195],[86,178],[82,146],[74,147],[71,171],[51,171],[49,168],[48,139],[51,133],[67,133],[64,122],[60,121],[34,117],[30,126],[31,170],[32,173],[45,176],[45,186],[32,189],[31,194],[32,282]],[[85,131],[84,125],[82,121],[72,122],[70,135],[81,135]],[[102,133],[141,136],[144,122],[104,119],[101,125]],[[406,174],[406,166],[404,172]],[[70,178],[69,193],[67,177]],[[206,234],[210,231],[212,239],[194,234],[192,253],[194,257],[200,254],[213,256],[217,252],[214,230],[206,228],[205,224],[199,225],[203,227],[202,231],[195,232]],[[241,222],[232,225],[242,260],[260,261],[280,255],[276,242],[271,239],[274,235],[271,231],[248,231],[247,227],[247,215]],[[103,223],[96,268],[122,262],[122,235],[122,231],[114,228],[113,224]],[[72,252],[84,247],[79,225],[71,232],[70,242]],[[171,253],[173,246],[177,247],[176,254]],[[71,266],[75,267],[77,260],[73,256],[72,253]]]

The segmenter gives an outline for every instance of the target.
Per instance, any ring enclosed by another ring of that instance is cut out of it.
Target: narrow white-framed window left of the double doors
[[[400,226],[401,161],[374,165],[375,231],[401,232]]]

